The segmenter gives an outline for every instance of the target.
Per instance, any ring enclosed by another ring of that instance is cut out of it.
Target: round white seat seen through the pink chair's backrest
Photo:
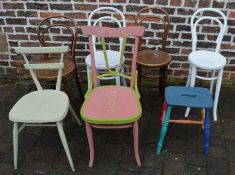
[[[96,69],[106,69],[105,58],[103,50],[98,50],[95,53],[95,65]],[[120,53],[114,50],[107,50],[108,63],[110,68],[115,68],[120,61]],[[85,59],[86,65],[91,67],[91,56],[88,55]],[[123,57],[123,62],[125,58]]]

